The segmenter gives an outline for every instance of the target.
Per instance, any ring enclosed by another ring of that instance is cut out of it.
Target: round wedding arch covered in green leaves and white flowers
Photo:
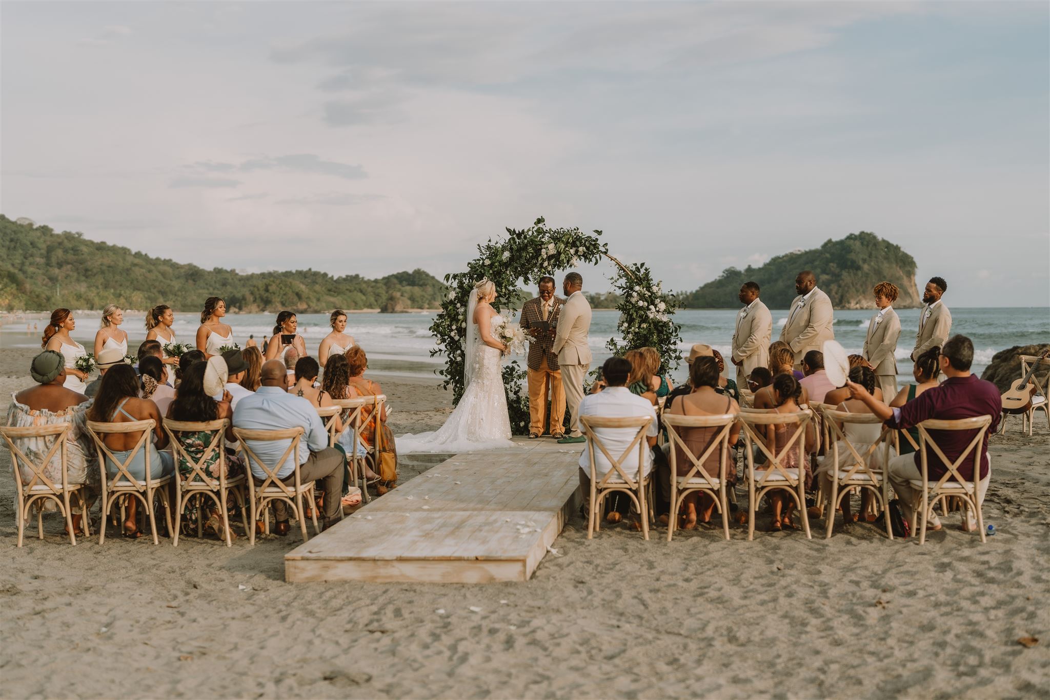
[[[603,257],[616,266],[612,284],[621,297],[616,309],[623,338],[610,338],[606,347],[616,355],[636,347],[655,347],[663,359],[662,374],[678,365],[680,326],[671,320],[680,305],[678,298],[665,292],[660,282],[653,281],[649,266],[644,262],[625,266],[609,255],[608,246],[598,239],[601,235],[601,231],[583,233],[579,228],[552,229],[541,216],[527,229],[508,228],[506,239],[489,238],[478,246],[478,257],[467,264],[465,272],[445,275],[448,293],[441,303],[441,313],[430,325],[438,345],[430,355],[445,355],[445,367],[437,374],[445,378],[445,388],[452,387],[454,404],[463,396],[463,345],[469,321],[466,309],[476,282],[487,278],[496,284],[503,296],[492,305],[500,311],[501,304],[505,306],[508,297],[518,290],[519,280],[532,284],[544,275],[553,276],[581,262],[596,264]],[[555,292],[561,293],[561,288],[555,288]],[[523,391],[526,376],[517,359],[503,365],[503,386],[514,434],[528,428],[528,395]]]

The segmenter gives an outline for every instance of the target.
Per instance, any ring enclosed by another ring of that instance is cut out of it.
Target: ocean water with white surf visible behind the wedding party
[[[689,351],[693,343],[708,343],[723,356],[729,355],[736,309],[678,311],[674,319],[681,325],[681,349]],[[773,310],[773,339],[788,320],[785,310]],[[843,310],[835,312],[835,338],[848,353],[859,353],[864,344],[872,310]],[[898,342],[898,370],[901,380],[909,380],[911,362],[908,356],[915,345],[915,334],[919,325],[919,310],[907,309],[898,312],[903,325]],[[369,353],[370,372],[377,375],[400,377],[434,377],[435,370],[443,365],[440,356],[430,357],[434,338],[428,331],[435,314],[432,312],[414,314],[351,314],[346,333],[354,336]],[[1050,307],[1029,309],[951,309],[952,334],[961,333],[973,340],[973,368],[980,374],[991,361],[992,356],[1006,347],[1031,343],[1050,342]],[[90,351],[94,333],[99,327],[99,314],[78,314],[74,337]],[[180,342],[193,342],[198,325],[194,314],[177,314],[173,330]],[[273,333],[274,315],[233,314],[224,319],[233,328],[234,339],[242,346],[249,336],[261,340]],[[318,343],[329,333],[328,314],[301,314],[298,317],[299,333],[306,338],[307,346],[313,353]],[[605,344],[616,336],[618,314],[615,311],[595,311],[591,320],[590,344],[595,363],[608,356]],[[29,331],[25,322],[12,321],[0,326],[0,348],[39,347],[40,336],[46,320],[30,320]],[[38,331],[33,332],[36,323]],[[130,352],[146,337],[143,316],[128,313],[121,326],[131,338]],[[524,364],[524,362],[522,362]],[[675,383],[686,378],[682,362],[672,373]]]

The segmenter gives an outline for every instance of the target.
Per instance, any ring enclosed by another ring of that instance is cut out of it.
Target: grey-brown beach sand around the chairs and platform
[[[4,396],[32,355],[0,354]],[[433,382],[380,381],[395,433],[450,410]],[[1047,697],[1050,437],[1020,424],[992,440],[985,545],[957,515],[921,548],[867,525],[588,542],[576,516],[530,581],[486,586],[289,585],[294,536],[71,547],[54,514],[17,549],[3,450],[0,696]]]

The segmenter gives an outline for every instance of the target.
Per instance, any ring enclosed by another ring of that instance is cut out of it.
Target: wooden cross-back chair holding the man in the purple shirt
[[[981,542],[985,542],[984,515],[981,512],[981,499],[979,496],[979,484],[981,482],[981,455],[985,433],[991,425],[991,416],[976,416],[974,418],[963,418],[953,421],[926,420],[919,424],[919,454],[920,472],[922,479],[909,481],[911,488],[920,490],[919,503],[911,511],[911,531],[916,531],[916,518],[921,517],[919,530],[919,544],[926,542],[926,523],[929,519],[929,511],[938,501],[951,496],[962,500],[968,508],[972,508],[976,513],[978,530],[981,533]],[[954,461],[949,460],[941,451],[941,447],[933,441],[927,430],[976,430],[973,439],[970,440],[966,449]],[[947,470],[937,483],[930,485],[928,473],[928,454],[932,450],[941,459]],[[973,478],[963,479],[959,473],[959,467],[970,459],[973,461]],[[990,474],[989,474],[990,475]],[[942,509],[945,506],[942,504]],[[922,510],[920,514],[918,511]],[[963,517],[969,521],[969,515],[963,513]]]

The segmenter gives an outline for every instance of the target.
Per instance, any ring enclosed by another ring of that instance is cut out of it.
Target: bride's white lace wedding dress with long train
[[[506,323],[499,314],[489,321],[496,331]],[[507,397],[503,389],[502,353],[481,341],[476,323],[470,323],[474,334],[472,358],[468,361],[467,382],[463,398],[440,429],[432,432],[404,434],[397,438],[399,454],[407,452],[470,452],[479,449],[511,447],[510,416]]]

